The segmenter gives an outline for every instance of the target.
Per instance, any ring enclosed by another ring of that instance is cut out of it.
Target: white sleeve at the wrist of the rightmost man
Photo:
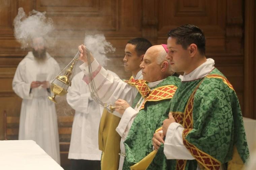
[[[184,128],[179,123],[171,123],[167,129],[164,141],[164,155],[167,159],[195,159],[183,144]]]

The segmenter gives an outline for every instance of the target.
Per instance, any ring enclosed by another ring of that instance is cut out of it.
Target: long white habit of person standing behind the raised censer
[[[118,75],[112,71],[113,76]],[[82,78],[81,71],[72,79],[72,86],[67,93],[68,104],[75,109],[68,159],[100,160],[98,146],[99,123],[103,107],[91,98],[88,84]]]

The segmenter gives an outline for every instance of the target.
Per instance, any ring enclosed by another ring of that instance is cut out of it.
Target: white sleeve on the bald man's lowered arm
[[[132,116],[136,113],[137,111],[131,107],[128,107],[127,109],[125,109],[125,112],[116,128],[116,131],[121,137],[123,137],[125,129],[128,126],[129,122],[131,121]]]

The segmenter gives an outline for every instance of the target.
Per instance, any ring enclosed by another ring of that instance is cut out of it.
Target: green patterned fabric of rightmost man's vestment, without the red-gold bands
[[[217,68],[208,75],[212,74],[224,76]],[[170,112],[185,112],[188,99],[201,80],[194,96],[193,129],[187,134],[186,140],[221,164],[232,159],[235,145],[245,163],[249,150],[241,108],[235,91],[221,78],[183,81],[172,98]],[[175,169],[175,162],[169,160],[169,169]],[[195,160],[188,160],[185,169],[196,169],[197,166],[188,168],[189,164],[195,164]]]

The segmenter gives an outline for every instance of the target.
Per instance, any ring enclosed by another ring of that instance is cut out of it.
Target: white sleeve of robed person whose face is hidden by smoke
[[[82,113],[89,113],[88,110],[88,104],[89,104],[89,98],[90,98],[90,91],[88,89],[88,85],[83,82],[83,80],[80,78],[79,74],[77,74],[72,80],[72,86],[69,87],[68,93],[67,93],[67,102],[68,104],[76,111],[82,112]],[[82,86],[81,86],[82,85]],[[82,93],[81,88],[86,88],[88,91],[87,93]],[[91,101],[93,102],[93,101]]]

